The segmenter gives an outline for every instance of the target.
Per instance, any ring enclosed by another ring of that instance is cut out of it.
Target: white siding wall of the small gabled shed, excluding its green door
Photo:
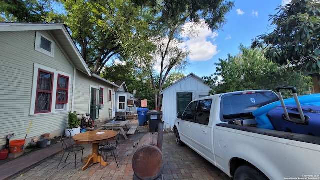
[[[176,119],[176,94],[179,92],[192,93],[192,100],[199,98],[199,95],[208,95],[210,87],[201,81],[189,76],[176,84],[171,85],[163,91],[162,112],[164,130],[171,131]]]

